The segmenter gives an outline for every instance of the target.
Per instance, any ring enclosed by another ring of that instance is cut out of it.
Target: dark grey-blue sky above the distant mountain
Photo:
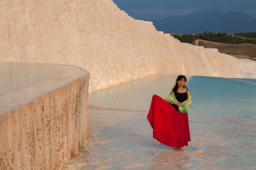
[[[182,16],[197,10],[242,11],[256,18],[256,0],[113,0],[135,19]]]

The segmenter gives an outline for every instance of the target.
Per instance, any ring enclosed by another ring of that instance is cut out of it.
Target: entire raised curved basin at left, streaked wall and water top
[[[8,62],[0,71],[0,168],[62,167],[86,141],[88,72]]]

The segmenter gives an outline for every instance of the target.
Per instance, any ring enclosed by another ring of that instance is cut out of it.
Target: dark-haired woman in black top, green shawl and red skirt
[[[188,146],[190,132],[188,111],[191,95],[185,86],[187,78],[177,76],[176,84],[166,100],[154,95],[147,120],[153,128],[153,138],[172,147]]]

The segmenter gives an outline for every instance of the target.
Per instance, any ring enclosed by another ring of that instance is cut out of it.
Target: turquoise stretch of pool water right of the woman
[[[256,116],[256,79],[192,76],[187,85],[196,114]]]

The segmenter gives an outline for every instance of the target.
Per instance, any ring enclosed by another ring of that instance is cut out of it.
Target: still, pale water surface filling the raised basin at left
[[[79,67],[68,65],[0,62],[0,117],[85,74]]]

